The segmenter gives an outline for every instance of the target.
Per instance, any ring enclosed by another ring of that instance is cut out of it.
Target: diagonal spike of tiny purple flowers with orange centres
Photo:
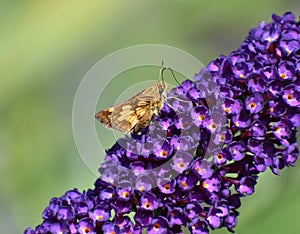
[[[237,51],[172,90],[155,125],[107,151],[94,189],[53,198],[25,233],[233,232],[258,175],[297,160],[299,48],[290,12],[252,29]]]

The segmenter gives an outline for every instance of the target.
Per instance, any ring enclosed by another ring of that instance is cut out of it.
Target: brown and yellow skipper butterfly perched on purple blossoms
[[[162,64],[159,80],[152,86],[123,103],[99,111],[95,117],[107,128],[125,133],[140,133],[160,115],[167,99],[167,83],[163,80],[163,71],[166,69],[169,69],[174,77],[173,71]]]

